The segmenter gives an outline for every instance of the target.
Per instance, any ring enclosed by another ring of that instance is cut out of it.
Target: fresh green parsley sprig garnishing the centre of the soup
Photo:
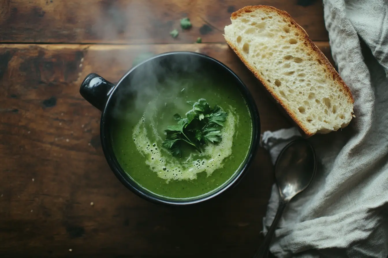
[[[182,157],[182,144],[192,145],[201,152],[201,147],[208,143],[221,141],[221,128],[228,116],[219,106],[210,108],[206,99],[199,99],[197,102],[187,101],[192,109],[182,118],[174,114],[177,125],[170,125],[166,128],[166,140],[163,147],[168,149],[173,156]]]

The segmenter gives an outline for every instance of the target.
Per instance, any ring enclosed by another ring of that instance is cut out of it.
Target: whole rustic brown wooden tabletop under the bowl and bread
[[[321,1],[0,0],[0,257],[251,257],[273,183],[264,149],[232,191],[155,205],[110,171],[100,111],[78,91],[90,72],[117,82],[144,51],[199,51],[248,85],[262,132],[289,127],[222,36],[233,11],[257,4],[289,12],[331,60]],[[171,38],[185,16],[192,29]]]

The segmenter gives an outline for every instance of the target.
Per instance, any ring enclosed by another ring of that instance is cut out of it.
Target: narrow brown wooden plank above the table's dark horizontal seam
[[[315,0],[1,0],[0,42],[223,43],[233,11],[246,5],[286,10],[312,40],[328,40],[321,1]],[[193,27],[180,29],[189,17]],[[169,32],[179,29],[177,39]]]

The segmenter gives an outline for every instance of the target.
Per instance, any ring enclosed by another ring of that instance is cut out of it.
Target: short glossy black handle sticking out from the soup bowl
[[[103,111],[114,84],[96,73],[89,73],[83,80],[80,93],[90,104]]]

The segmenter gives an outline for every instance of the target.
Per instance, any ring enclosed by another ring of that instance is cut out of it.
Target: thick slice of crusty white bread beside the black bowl
[[[352,93],[287,12],[247,6],[231,21],[227,43],[307,136],[350,123]]]

